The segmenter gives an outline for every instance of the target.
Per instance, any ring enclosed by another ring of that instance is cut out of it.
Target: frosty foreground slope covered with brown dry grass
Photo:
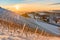
[[[38,28],[30,28],[28,25],[20,25],[0,20],[0,40],[59,40],[60,37],[40,31]]]

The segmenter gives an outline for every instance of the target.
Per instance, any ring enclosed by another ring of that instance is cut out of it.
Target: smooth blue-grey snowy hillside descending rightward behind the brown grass
[[[21,25],[24,25],[24,24],[26,24],[26,26],[29,28],[35,29],[38,27],[39,30],[44,30],[48,33],[60,36],[60,30],[58,29],[58,27],[44,23],[44,22],[41,22],[41,21],[37,21],[35,19],[24,18],[24,17],[22,17],[16,13],[14,13],[10,10],[4,9],[4,8],[0,8],[0,20],[6,21],[9,23],[14,23],[16,25],[18,24],[20,27],[21,27]],[[1,23],[1,21],[0,21],[0,23]],[[4,26],[4,28],[5,28],[5,26]]]

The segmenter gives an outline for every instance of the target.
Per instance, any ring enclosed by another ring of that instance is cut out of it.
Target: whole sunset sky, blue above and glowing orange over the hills
[[[0,6],[21,11],[60,10],[60,0],[0,0]]]

